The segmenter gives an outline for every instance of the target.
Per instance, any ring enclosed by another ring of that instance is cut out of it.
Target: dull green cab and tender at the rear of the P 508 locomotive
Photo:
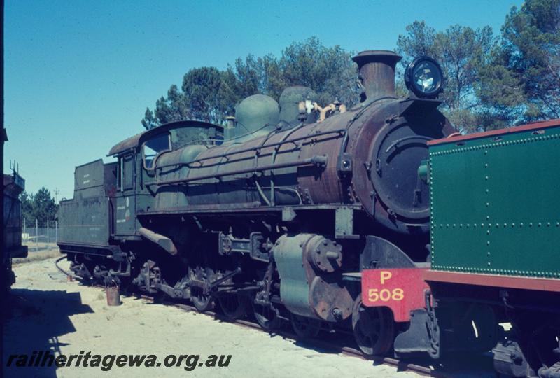
[[[63,199],[58,213],[58,245],[73,260],[73,272],[105,283],[130,276],[127,251],[143,240],[137,215],[153,207],[155,162],[186,144],[219,143],[222,133],[221,126],[210,123],[169,123],[113,146],[108,156],[116,162],[99,159],[76,167],[73,198]],[[78,255],[110,258],[118,269]]]

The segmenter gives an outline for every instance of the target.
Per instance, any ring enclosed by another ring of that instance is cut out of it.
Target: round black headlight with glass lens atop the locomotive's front
[[[440,64],[430,57],[417,57],[407,66],[405,84],[416,96],[435,99],[443,90]]]

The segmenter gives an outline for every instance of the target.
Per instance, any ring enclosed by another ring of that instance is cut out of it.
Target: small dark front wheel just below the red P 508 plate
[[[380,356],[393,347],[395,323],[386,307],[364,307],[361,295],[354,302],[352,330],[360,351],[367,356]]]

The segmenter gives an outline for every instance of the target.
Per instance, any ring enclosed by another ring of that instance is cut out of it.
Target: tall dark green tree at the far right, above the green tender
[[[510,10],[477,94],[502,123],[560,118],[560,0]]]

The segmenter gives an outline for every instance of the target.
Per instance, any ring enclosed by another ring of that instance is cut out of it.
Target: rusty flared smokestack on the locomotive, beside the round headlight
[[[395,66],[400,59],[400,55],[387,50],[362,51],[352,58],[358,64],[365,99],[395,97]]]

